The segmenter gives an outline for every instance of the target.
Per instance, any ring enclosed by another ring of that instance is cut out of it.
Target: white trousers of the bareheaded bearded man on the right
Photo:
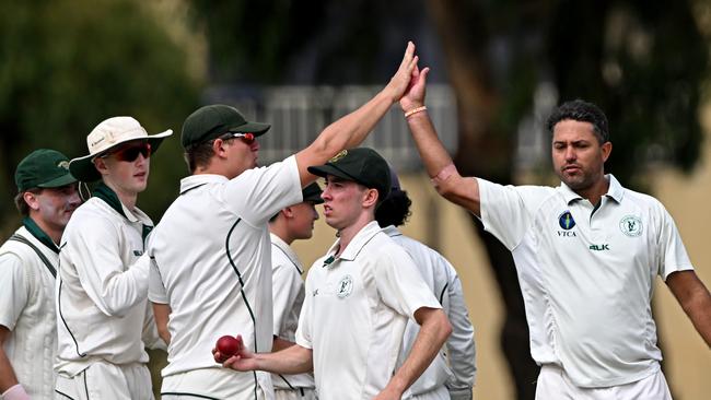
[[[580,388],[562,368],[544,365],[538,375],[536,400],[672,400],[662,370],[631,384],[607,388]]]

